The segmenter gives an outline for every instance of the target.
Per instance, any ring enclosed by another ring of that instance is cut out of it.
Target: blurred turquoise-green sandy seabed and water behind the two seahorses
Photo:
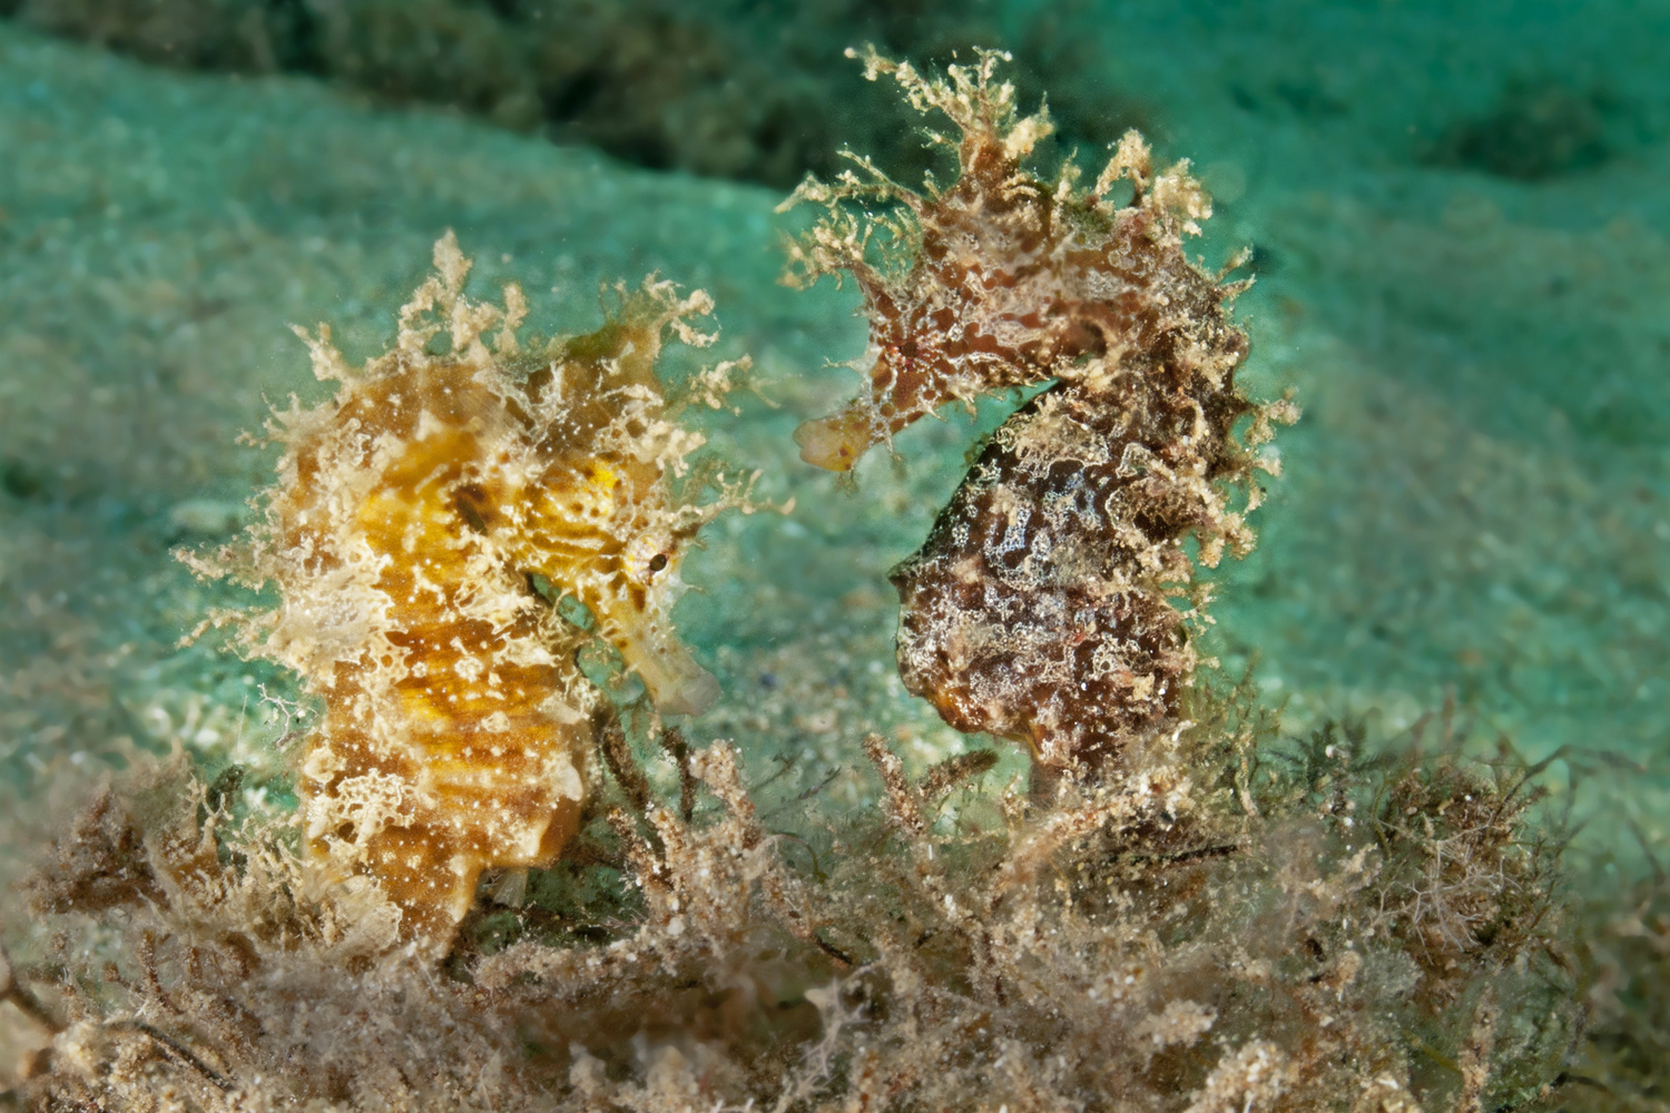
[[[1625,813],[1670,838],[1670,7],[1017,3],[982,20],[1024,47],[1069,144],[1116,105],[1194,159],[1217,197],[1209,262],[1256,245],[1251,382],[1293,389],[1306,417],[1283,434],[1261,549],[1222,577],[1226,666],[1252,662],[1291,729],[1343,713],[1394,729],[1455,692],[1530,753],[1618,751],[1652,771]],[[892,674],[885,571],[977,427],[924,422],[897,464],[867,461],[857,497],[798,464],[787,434],[852,389],[825,364],[858,355],[863,325],[850,290],[775,284],[782,190],[3,22],[0,152],[13,784],[122,738],[262,751],[277,726],[259,691],[282,677],[175,647],[232,599],[167,549],[235,532],[272,456],[234,437],[266,400],[322,397],[286,324],[377,350],[446,227],[481,289],[523,282],[541,327],[586,327],[600,280],[660,270],[715,295],[720,355],[763,369],[778,409],[710,432],[797,512],[736,519],[691,559],[706,594],[681,619],[726,684],[698,728],[830,768],[867,729],[924,761],[959,744]]]

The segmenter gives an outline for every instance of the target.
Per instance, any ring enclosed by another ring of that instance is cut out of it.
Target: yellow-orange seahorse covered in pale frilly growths
[[[618,287],[600,330],[529,350],[521,290],[474,302],[469,265],[448,232],[394,345],[359,369],[327,325],[297,329],[341,387],[274,415],[286,451],[244,557],[281,597],[252,619],[252,649],[324,701],[299,769],[306,861],[372,883],[431,954],[483,869],[546,864],[574,836],[610,714],[576,664],[588,639],[661,713],[716,696],[670,611],[696,531],[746,504],[746,484],[720,481],[705,504],[678,489],[703,437],[668,419],[655,374],[665,334],[711,342],[686,320],[706,294]]]

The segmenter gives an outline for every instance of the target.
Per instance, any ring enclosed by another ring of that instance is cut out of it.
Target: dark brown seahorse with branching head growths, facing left
[[[1226,304],[1241,285],[1182,250],[1211,215],[1187,164],[1156,175],[1127,132],[1091,190],[1072,164],[1040,180],[1024,160],[1050,123],[1017,118],[1000,60],[930,80],[865,52],[865,77],[890,73],[957,125],[934,138],[959,177],[917,194],[860,159],[863,175],[808,179],[785,202],[827,207],[790,280],[852,274],[870,319],[868,390],[795,439],[807,462],[848,471],[949,400],[1054,380],[893,569],[898,666],[952,726],[1024,741],[1045,766],[1094,764],[1179,721],[1197,659],[1176,604],[1206,602],[1184,542],[1209,567],[1251,551],[1227,494],[1256,506],[1252,472],[1276,461],[1252,449],[1298,410],[1234,382],[1247,337]]]

